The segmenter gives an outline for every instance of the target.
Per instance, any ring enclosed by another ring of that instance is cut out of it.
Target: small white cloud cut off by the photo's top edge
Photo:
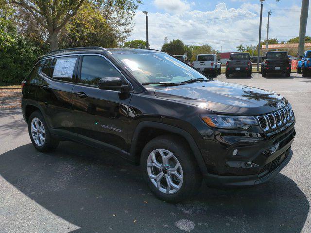
[[[183,0],[154,0],[153,4],[158,8],[170,13],[179,13],[188,11],[191,5],[195,3],[188,3]]]

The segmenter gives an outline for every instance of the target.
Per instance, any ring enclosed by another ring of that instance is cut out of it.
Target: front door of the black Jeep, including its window
[[[104,77],[120,77],[121,73],[102,55],[81,56],[79,83],[72,90],[76,132],[83,141],[113,152],[127,153],[128,111],[131,94],[100,90]]]

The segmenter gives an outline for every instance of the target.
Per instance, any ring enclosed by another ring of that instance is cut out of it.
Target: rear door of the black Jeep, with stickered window
[[[44,110],[53,134],[75,136],[72,89],[76,83],[79,56],[59,56],[47,59],[41,69],[43,77],[37,101]]]

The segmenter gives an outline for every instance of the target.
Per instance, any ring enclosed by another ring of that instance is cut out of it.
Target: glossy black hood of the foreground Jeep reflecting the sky
[[[220,81],[191,83],[155,90],[162,99],[184,102],[218,114],[260,115],[284,107],[283,96],[250,86]]]

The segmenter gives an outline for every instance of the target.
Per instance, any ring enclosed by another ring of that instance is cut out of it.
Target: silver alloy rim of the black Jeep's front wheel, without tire
[[[147,172],[153,185],[162,193],[174,194],[183,184],[183,169],[169,150],[153,150],[147,159]]]

